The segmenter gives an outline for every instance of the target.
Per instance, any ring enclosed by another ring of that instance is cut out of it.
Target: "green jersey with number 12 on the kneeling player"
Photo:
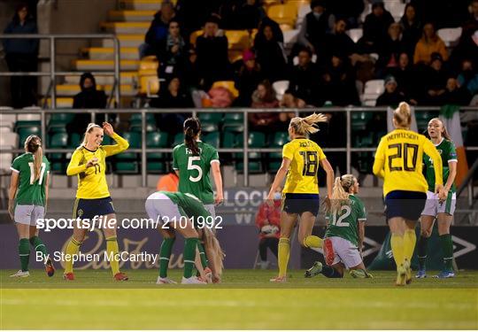
[[[358,221],[366,220],[366,208],[354,195],[349,196],[350,205],[344,204],[338,213],[328,213],[325,237],[338,236],[358,246]]]

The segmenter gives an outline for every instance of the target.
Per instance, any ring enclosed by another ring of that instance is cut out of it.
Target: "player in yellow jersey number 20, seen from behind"
[[[415,223],[427,200],[428,184],[422,174],[423,153],[435,167],[435,191],[445,199],[442,158],[427,137],[410,130],[410,106],[400,103],[393,112],[395,130],[384,135],[375,152],[374,174],[383,178],[383,197],[397,263],[397,286],[412,282],[410,262],[417,241]],[[444,196],[444,197],[443,197]]]

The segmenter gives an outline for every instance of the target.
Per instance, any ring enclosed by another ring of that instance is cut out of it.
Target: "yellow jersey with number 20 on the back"
[[[393,190],[427,192],[423,152],[433,160],[436,184],[443,184],[442,158],[427,137],[405,129],[382,137],[375,152],[374,174],[383,178],[383,196]]]

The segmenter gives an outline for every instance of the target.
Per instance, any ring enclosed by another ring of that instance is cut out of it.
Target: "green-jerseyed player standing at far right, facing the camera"
[[[427,243],[433,229],[435,220],[438,220],[438,234],[443,248],[443,271],[436,277],[452,278],[453,272],[453,243],[451,241],[450,226],[453,219],[453,212],[457,203],[457,194],[455,187],[455,176],[457,174],[458,158],[455,150],[455,144],[451,142],[451,137],[443,125],[443,121],[434,118],[428,122],[428,135],[435,144],[436,150],[440,152],[443,160],[443,181],[446,192],[446,200],[441,201],[434,193],[435,173],[432,160],[425,156],[423,158],[426,168],[426,178],[428,182],[427,204],[421,212],[420,220],[420,240],[418,243],[419,271],[417,278],[426,278]]]

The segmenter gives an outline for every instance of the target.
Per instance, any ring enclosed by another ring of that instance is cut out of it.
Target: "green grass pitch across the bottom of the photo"
[[[404,288],[392,272],[338,280],[297,270],[272,284],[272,270],[227,270],[222,284],[201,287],[158,286],[156,270],[127,271],[120,283],[105,270],[77,271],[75,282],[61,271],[12,273],[0,271],[0,329],[478,328],[478,272]],[[170,277],[181,280],[181,271]]]

